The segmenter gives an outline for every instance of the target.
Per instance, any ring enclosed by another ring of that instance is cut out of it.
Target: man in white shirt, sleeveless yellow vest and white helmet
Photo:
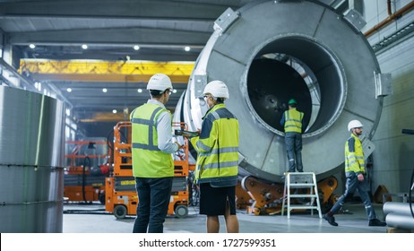
[[[147,85],[151,100],[131,113],[132,158],[138,207],[134,233],[162,233],[174,177],[171,113],[165,108],[173,90],[166,74],[154,74]]]

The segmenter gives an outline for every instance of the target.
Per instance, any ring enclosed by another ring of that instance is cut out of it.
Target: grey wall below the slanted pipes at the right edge
[[[414,169],[414,36],[377,55],[383,73],[392,74],[392,95],[384,98],[383,112],[373,137],[373,187],[408,193]]]

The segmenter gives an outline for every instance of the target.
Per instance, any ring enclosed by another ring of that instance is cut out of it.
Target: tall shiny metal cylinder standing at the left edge
[[[62,232],[65,105],[0,86],[0,232]]]

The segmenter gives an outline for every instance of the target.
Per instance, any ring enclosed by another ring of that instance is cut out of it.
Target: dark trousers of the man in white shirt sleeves
[[[168,212],[173,177],[135,177],[138,207],[134,233],[162,233]]]

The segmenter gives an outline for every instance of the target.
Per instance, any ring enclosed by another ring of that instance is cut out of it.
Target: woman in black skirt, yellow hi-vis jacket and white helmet
[[[198,153],[194,178],[200,185],[200,214],[207,215],[207,232],[218,233],[224,215],[227,232],[237,233],[238,121],[224,105],[229,99],[224,82],[209,82],[203,98],[210,109],[200,135],[191,139]]]

